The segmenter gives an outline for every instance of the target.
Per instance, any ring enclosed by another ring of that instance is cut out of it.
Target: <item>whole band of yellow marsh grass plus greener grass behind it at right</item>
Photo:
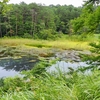
[[[9,38],[4,37],[0,39],[1,46],[24,46],[27,48],[59,48],[59,49],[76,49],[76,50],[89,50],[90,42],[97,42],[99,34],[94,35],[62,35],[61,38],[56,40],[35,40],[26,38]]]

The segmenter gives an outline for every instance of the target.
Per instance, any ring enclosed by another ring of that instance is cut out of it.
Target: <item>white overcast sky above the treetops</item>
[[[83,4],[83,0],[10,0],[9,3],[20,3],[24,1],[25,3],[29,4],[29,3],[41,3],[41,4],[45,4],[45,5],[74,5],[75,7],[81,6]]]

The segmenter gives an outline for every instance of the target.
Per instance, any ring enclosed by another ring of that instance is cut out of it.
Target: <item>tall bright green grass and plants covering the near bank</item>
[[[100,71],[93,71],[90,75],[73,73],[58,76],[45,73],[35,78],[28,76],[23,86],[18,87],[16,78],[5,79],[4,86],[0,87],[0,100],[100,100]],[[10,85],[12,84],[12,85]],[[10,86],[9,86],[10,85]],[[8,91],[3,89],[8,86]],[[14,86],[14,89],[11,87]]]

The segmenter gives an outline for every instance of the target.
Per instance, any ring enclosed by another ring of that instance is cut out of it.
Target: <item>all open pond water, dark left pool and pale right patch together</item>
[[[32,69],[38,62],[39,59],[33,56],[2,58],[0,59],[0,78],[18,76],[21,71]],[[63,72],[68,72],[70,68],[77,69],[80,66],[87,66],[87,64],[84,62],[57,61],[56,64],[47,68],[47,72],[57,72],[58,68]]]

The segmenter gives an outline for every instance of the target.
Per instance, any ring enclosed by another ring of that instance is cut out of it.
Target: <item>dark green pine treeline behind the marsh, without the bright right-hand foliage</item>
[[[12,4],[9,12],[0,13],[0,37],[20,36],[46,39],[71,32],[70,20],[81,14],[81,7],[72,5]]]

